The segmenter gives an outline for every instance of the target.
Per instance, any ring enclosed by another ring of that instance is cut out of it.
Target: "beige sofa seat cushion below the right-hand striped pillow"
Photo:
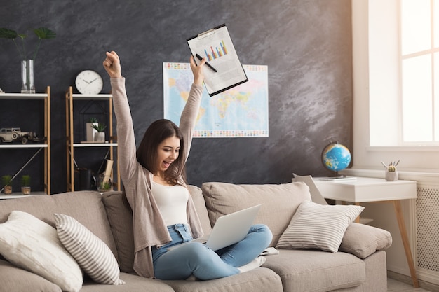
[[[350,253],[281,249],[263,267],[281,277],[284,292],[338,291],[365,281],[365,263]]]

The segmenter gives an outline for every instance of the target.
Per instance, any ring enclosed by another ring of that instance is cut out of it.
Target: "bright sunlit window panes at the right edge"
[[[437,145],[438,0],[400,0],[400,81],[402,145]]]

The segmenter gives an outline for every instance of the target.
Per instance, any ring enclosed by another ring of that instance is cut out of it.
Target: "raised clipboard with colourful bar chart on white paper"
[[[204,85],[210,97],[248,81],[225,24],[186,41],[197,65],[201,61],[196,55],[205,57],[210,64],[210,67],[205,66],[203,70]]]

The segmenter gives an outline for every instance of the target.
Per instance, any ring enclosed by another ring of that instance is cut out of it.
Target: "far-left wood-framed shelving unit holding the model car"
[[[0,144],[0,148],[9,149],[23,149],[23,148],[34,148],[36,151],[29,160],[22,165],[22,167],[13,175],[13,178],[17,177],[20,172],[31,162],[36,156],[43,151],[44,155],[44,190],[34,191],[32,190],[32,195],[50,195],[50,86],[46,88],[46,93],[0,93],[0,99],[11,99],[11,100],[42,100],[44,102],[44,136],[43,144],[13,144],[4,143]],[[1,188],[1,187],[0,187]],[[6,198],[23,197],[20,192],[14,192],[12,195],[1,195],[0,199]]]

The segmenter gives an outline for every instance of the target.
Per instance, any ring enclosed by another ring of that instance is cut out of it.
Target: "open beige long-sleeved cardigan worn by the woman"
[[[111,78],[114,113],[117,120],[118,160],[121,179],[131,209],[134,228],[134,270],[142,277],[154,277],[151,246],[161,246],[171,241],[166,224],[151,193],[153,174],[142,167],[136,158],[133,118],[131,117],[125,78]],[[187,155],[191,147],[203,87],[193,84],[180,119],[180,130],[187,144]],[[186,157],[187,159],[187,157]],[[187,221],[194,238],[203,235],[203,229],[189,196]]]

